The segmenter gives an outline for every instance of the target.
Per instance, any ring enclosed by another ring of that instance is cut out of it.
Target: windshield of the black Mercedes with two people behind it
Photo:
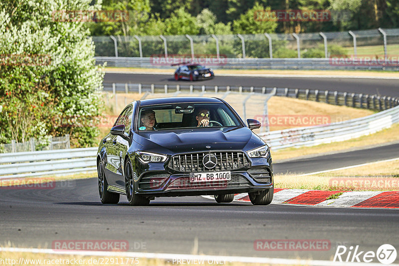
[[[199,120],[208,120],[206,127],[240,127],[236,115],[224,103],[180,103],[144,106],[139,111],[137,128],[146,131],[147,114],[155,113],[153,130],[171,130],[202,127]]]

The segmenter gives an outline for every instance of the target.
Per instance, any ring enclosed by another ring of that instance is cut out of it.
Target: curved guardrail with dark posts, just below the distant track
[[[104,83],[104,91],[124,93],[261,93],[268,94],[274,89],[276,96],[324,102],[338,106],[349,106],[370,110],[386,110],[399,105],[399,98],[368,94],[356,94],[331,90],[309,90],[295,88],[267,88],[243,86],[205,86],[205,85],[161,85],[161,84],[132,84],[132,83]]]

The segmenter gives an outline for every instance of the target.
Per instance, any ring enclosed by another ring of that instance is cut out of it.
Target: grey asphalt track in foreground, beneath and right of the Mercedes
[[[324,161],[340,166],[382,159],[384,153],[388,158],[398,155],[398,145],[293,160],[275,164],[275,169],[298,172],[308,165],[306,170],[315,171],[318,164],[331,167]],[[0,242],[16,247],[51,249],[56,240],[126,240],[129,251],[192,254],[198,239],[198,254],[317,260],[332,260],[338,245],[374,252],[383,244],[399,247],[398,210],[217,204],[202,197],[157,198],[150,206],[132,207],[121,196],[116,206],[102,205],[96,178],[59,181],[52,189],[0,188],[0,214]],[[327,240],[331,247],[257,251],[258,239]]]

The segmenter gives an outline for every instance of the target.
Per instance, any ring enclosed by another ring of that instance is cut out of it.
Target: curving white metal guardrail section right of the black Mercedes
[[[273,149],[312,146],[343,141],[390,128],[399,122],[399,106],[363,118],[330,125],[286,129],[260,133],[259,136]]]

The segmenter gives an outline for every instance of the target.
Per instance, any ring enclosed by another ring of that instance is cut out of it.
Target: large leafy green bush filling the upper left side
[[[97,89],[103,74],[94,64],[89,30],[84,23],[54,22],[51,17],[59,9],[99,8],[89,3],[0,2],[1,142],[69,133],[77,146],[94,144],[97,129],[92,125],[99,115]],[[26,60],[18,59],[22,56]],[[80,127],[55,123],[58,118],[68,121],[75,116],[84,118]]]

